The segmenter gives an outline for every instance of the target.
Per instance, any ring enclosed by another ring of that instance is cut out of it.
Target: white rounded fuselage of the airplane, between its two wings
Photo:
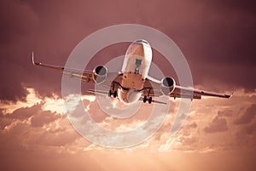
[[[143,84],[148,77],[152,61],[152,48],[145,40],[137,40],[129,46],[122,66],[123,79],[118,89],[119,100],[125,104],[137,102],[142,96]],[[124,89],[125,88],[125,89]]]

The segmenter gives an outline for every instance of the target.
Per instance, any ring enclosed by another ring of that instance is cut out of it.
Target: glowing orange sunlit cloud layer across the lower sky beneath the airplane
[[[199,166],[196,164],[196,161],[201,161],[211,164],[211,168],[218,167],[219,170],[232,170],[233,168],[229,164],[234,160],[241,160],[240,155],[232,157],[232,154],[246,154],[247,157],[251,157],[253,154],[247,151],[253,151],[253,144],[255,143],[254,118],[250,123],[240,125],[234,123],[236,119],[247,115],[247,111],[250,111],[252,105],[249,104],[253,104],[255,94],[246,94],[242,90],[239,92],[242,95],[237,94],[230,100],[195,100],[189,118],[178,134],[173,137],[170,136],[170,128],[172,127],[172,121],[176,112],[175,108],[178,103],[172,103],[172,112],[168,114],[166,122],[163,123],[162,128],[152,138],[141,145],[118,151],[108,150],[84,140],[83,137],[76,133],[68,122],[67,117],[63,117],[54,111],[44,111],[44,99],[42,99],[42,103],[38,105],[21,107],[8,115],[1,114],[0,140],[2,146],[0,150],[3,151],[2,154],[8,154],[5,161],[9,161],[9,155],[11,155],[19,168],[22,168],[22,166],[18,162],[17,157],[26,157],[27,151],[29,151],[32,156],[50,158],[51,160],[49,161],[44,160],[45,164],[57,164],[55,166],[56,169],[63,170],[67,170],[71,166],[63,168],[60,162],[58,160],[55,161],[52,156],[64,157],[63,161],[67,160],[72,165],[78,164],[74,166],[74,168],[78,169],[82,169],[82,166],[85,167],[88,164],[90,168],[109,168],[113,170],[120,169],[125,165],[127,165],[126,169],[131,168],[135,170],[152,167],[156,170],[170,170],[172,168],[177,170],[186,168],[198,170],[200,167],[207,167],[207,165]],[[240,103],[241,98],[248,104],[244,110],[242,109],[243,105]],[[94,107],[96,101],[89,102],[87,100],[86,104],[90,105],[89,111],[96,110]],[[236,115],[236,108],[232,108],[235,105],[238,111],[240,111],[239,116]],[[209,112],[209,106],[211,106],[211,112]],[[144,112],[147,109],[147,106],[143,106]],[[102,111],[98,110],[96,113],[92,112],[91,115],[98,114],[101,116],[100,112]],[[218,118],[218,121],[216,121],[216,118]],[[222,118],[226,122],[222,123],[220,120]],[[135,127],[136,124],[134,125],[134,123],[141,122],[142,119],[147,119],[147,117],[134,117],[128,123],[118,123],[113,119],[109,119],[109,117],[101,117],[97,122],[100,124],[107,122],[108,127],[115,130],[120,128],[121,125],[123,125],[123,128]],[[227,126],[228,129],[217,131],[217,126],[218,128]],[[206,128],[213,130],[210,131],[211,134],[207,133]],[[241,148],[244,150],[240,151]],[[20,151],[19,154],[16,151]],[[227,165],[224,165],[224,162],[218,158],[218,155],[224,156],[223,160],[226,161]],[[93,164],[87,162],[85,164],[81,161],[81,157],[89,158],[88,160]],[[192,157],[195,159],[191,160]],[[229,157],[229,159],[225,157]],[[76,158],[76,160],[71,158]],[[144,162],[140,162],[140,158],[143,158]],[[119,162],[119,164],[116,165],[116,162],[112,160]],[[170,163],[170,160],[176,162],[167,164]],[[216,163],[214,164],[210,160],[215,160]],[[184,161],[187,163],[187,167],[183,166],[182,163]],[[146,162],[148,162],[148,165],[145,164]],[[31,164],[32,168],[38,167],[33,160],[26,160],[26,163]],[[132,164],[130,165],[130,163]],[[245,167],[249,170],[252,167],[252,163],[247,162]],[[219,164],[223,165],[219,166]],[[242,163],[237,162],[235,165],[241,168]],[[4,164],[4,167],[15,169],[15,167],[6,164]]]

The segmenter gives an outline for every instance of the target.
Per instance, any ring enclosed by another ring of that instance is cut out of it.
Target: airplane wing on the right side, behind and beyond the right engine
[[[155,80],[152,77],[148,77],[144,83],[144,88],[149,89],[148,91],[144,91],[144,96],[160,96],[163,95],[161,88],[161,82]],[[204,90],[194,89],[194,88],[185,88],[182,86],[175,86],[172,93],[169,94],[170,97],[176,98],[186,98],[186,99],[197,99],[200,100],[201,96],[211,96],[211,97],[220,97],[220,98],[230,98],[231,95],[228,94],[218,94],[213,92],[208,92]]]

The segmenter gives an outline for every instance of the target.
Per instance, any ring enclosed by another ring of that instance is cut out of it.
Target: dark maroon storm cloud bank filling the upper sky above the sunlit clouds
[[[32,66],[32,50],[37,60],[63,66],[84,37],[105,26],[122,23],[152,26],[171,37],[189,61],[196,84],[204,84],[208,89],[228,85],[225,88],[251,90],[256,85],[255,79],[247,79],[253,78],[255,72],[253,4],[3,0],[0,99],[22,99],[27,94],[24,87],[36,88],[41,95],[61,94],[61,74]],[[154,60],[158,66],[165,66],[163,61]],[[166,75],[170,73],[170,67],[162,68]]]

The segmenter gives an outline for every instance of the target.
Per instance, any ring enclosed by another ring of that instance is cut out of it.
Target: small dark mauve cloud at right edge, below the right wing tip
[[[255,115],[256,115],[256,105],[253,104],[250,107],[248,107],[247,110],[241,115],[241,117],[236,119],[234,123],[236,125],[251,123]]]

